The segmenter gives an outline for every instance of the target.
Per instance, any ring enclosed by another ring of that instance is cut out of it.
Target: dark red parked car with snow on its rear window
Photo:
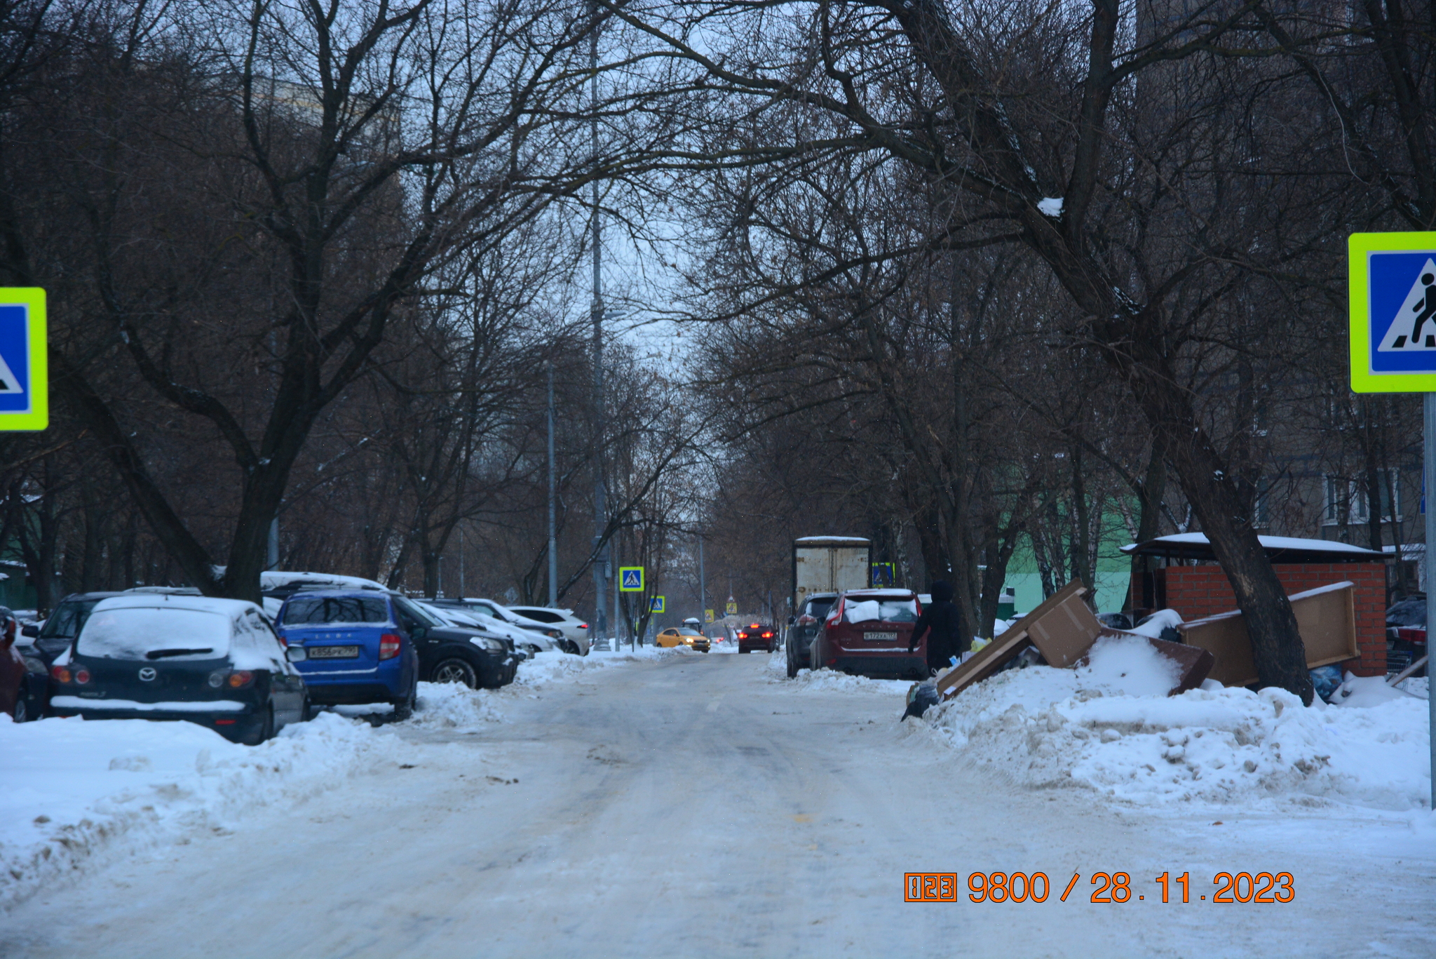
[[[908,589],[840,592],[813,637],[808,663],[873,679],[926,679],[928,637],[908,651],[919,612],[918,595]]]

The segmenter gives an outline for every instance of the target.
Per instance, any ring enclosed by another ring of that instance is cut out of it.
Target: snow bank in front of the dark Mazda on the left
[[[223,832],[250,808],[289,807],[393,762],[406,748],[386,730],[333,713],[257,748],[182,722],[0,717],[0,907],[7,907],[121,840],[134,853],[185,830]]]

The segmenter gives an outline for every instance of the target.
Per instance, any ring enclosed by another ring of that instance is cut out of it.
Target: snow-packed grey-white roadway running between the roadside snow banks
[[[1436,837],[1410,815],[1218,824],[1018,786],[899,725],[900,689],[688,654],[510,687],[504,723],[386,728],[332,789],[40,891],[0,955],[1436,955]],[[918,870],[1057,889],[903,903]],[[1096,871],[1132,901],[1090,903]],[[1193,901],[1162,904],[1152,878],[1183,871]],[[1198,901],[1221,871],[1292,873],[1295,901]]]

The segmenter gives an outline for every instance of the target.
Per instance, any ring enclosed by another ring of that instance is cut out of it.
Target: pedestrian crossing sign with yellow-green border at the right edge
[[[1436,393],[1436,233],[1347,240],[1353,393]]]

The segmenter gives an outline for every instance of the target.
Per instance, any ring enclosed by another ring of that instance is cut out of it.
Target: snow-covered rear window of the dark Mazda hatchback
[[[75,651],[105,660],[208,660],[228,656],[230,617],[175,607],[101,610],[85,621]]]

